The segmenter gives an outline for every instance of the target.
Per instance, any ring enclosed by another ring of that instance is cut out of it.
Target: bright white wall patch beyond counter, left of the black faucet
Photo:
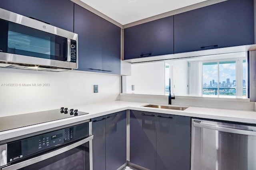
[[[132,64],[132,75],[123,76],[123,93],[164,95],[164,67],[164,61]]]

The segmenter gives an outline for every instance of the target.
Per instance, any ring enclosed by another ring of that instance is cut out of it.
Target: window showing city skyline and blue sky
[[[202,94],[246,96],[246,60],[202,63]]]

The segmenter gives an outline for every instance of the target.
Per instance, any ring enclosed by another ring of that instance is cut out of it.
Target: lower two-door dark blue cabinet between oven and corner
[[[114,170],[126,163],[126,111],[92,119],[93,169]]]

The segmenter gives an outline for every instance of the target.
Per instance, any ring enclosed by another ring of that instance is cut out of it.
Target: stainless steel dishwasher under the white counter
[[[256,170],[256,126],[192,119],[191,170]]]

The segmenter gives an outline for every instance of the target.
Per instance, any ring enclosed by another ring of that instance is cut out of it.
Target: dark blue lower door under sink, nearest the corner
[[[130,111],[130,162],[156,169],[156,113]]]

